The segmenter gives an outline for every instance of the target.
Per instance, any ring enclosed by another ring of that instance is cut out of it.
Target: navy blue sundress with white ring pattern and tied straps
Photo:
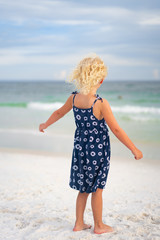
[[[91,193],[106,185],[111,156],[109,129],[104,118],[98,120],[93,114],[94,104],[103,99],[97,94],[91,108],[78,108],[74,106],[77,93],[72,92],[76,130],[69,186]]]

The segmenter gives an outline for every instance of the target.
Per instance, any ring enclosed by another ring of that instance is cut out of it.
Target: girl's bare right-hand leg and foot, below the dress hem
[[[113,232],[113,228],[104,224],[102,221],[102,192],[103,189],[97,188],[96,192],[92,193],[91,205],[94,218],[94,232],[101,234],[106,232]]]

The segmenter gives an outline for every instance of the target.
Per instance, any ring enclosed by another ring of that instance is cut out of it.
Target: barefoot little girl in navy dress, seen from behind
[[[102,221],[102,191],[106,185],[111,156],[108,127],[131,150],[136,160],[143,157],[142,152],[118,125],[109,102],[96,94],[106,76],[107,68],[98,56],[82,59],[69,79],[69,82],[75,80],[76,88],[80,92],[72,92],[66,103],[39,126],[39,130],[44,132],[44,129],[73,108],[76,130],[69,186],[79,191],[73,231],[91,228],[83,219],[89,193],[92,193],[94,233],[114,231]]]

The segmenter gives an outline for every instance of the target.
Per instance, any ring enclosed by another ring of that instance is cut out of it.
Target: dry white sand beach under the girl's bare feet
[[[103,220],[114,233],[93,233],[91,195],[85,222],[73,232],[77,190],[69,187],[71,157],[0,151],[1,240],[159,240],[160,165],[144,158],[111,158],[103,191]]]

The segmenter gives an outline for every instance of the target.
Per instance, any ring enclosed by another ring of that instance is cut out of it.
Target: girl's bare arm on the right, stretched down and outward
[[[101,112],[103,114],[103,117],[107,123],[107,125],[109,126],[109,128],[111,129],[111,131],[114,133],[114,135],[126,146],[128,147],[131,152],[133,153],[133,155],[135,156],[136,160],[139,160],[143,157],[142,152],[136,148],[136,146],[134,145],[134,143],[130,140],[130,138],[127,136],[127,134],[125,133],[125,131],[118,125],[111,107],[109,105],[109,102],[103,98],[103,103],[101,104],[102,108],[101,108]]]

